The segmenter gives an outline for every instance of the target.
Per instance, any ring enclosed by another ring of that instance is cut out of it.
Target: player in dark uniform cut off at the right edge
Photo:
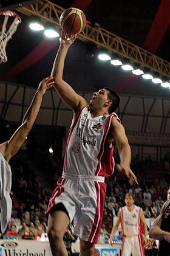
[[[154,221],[149,235],[160,240],[158,256],[170,256],[170,189],[167,192],[167,201],[161,207],[160,215]]]

